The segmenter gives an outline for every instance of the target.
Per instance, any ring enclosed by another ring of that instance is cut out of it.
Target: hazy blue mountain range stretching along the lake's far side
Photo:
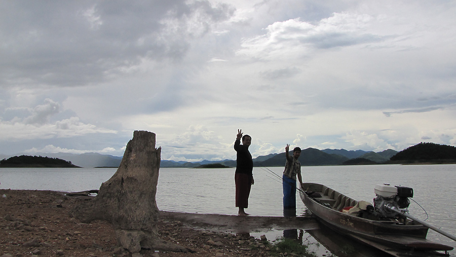
[[[301,151],[299,161],[302,166],[320,166],[320,165],[342,165],[344,162],[351,159],[369,160],[374,163],[384,163],[390,160],[390,158],[396,155],[398,152],[388,149],[383,152],[366,152],[362,150],[347,151],[345,149],[334,150],[325,149],[318,150],[314,148],[308,148]],[[17,154],[20,156],[24,154]],[[93,167],[119,167],[122,156],[102,155],[98,153],[85,153],[85,154],[68,154],[68,153],[36,153],[35,156],[59,158],[65,161],[69,161],[74,165],[93,168]],[[14,156],[14,155],[13,155]],[[12,156],[0,155],[0,159],[7,159]],[[266,156],[258,156],[253,159],[254,166],[284,166],[285,165],[285,153],[280,154],[269,154]],[[162,168],[193,168],[205,164],[220,163],[229,167],[236,167],[236,160],[222,160],[222,161],[200,161],[200,162],[184,162],[184,161],[170,161],[161,160],[160,167]]]

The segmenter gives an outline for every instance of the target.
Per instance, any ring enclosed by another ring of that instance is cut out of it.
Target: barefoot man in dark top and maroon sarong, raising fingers
[[[242,130],[238,129],[234,149],[236,150],[236,207],[239,207],[239,216],[249,215],[244,211],[248,207],[250,188],[253,180],[253,160],[249,152],[252,138],[249,135],[242,136]],[[241,144],[242,137],[242,144]]]

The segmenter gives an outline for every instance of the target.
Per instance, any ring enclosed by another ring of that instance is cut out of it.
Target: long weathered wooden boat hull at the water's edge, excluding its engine
[[[303,183],[300,198],[319,222],[376,248],[407,251],[446,251],[453,247],[426,239],[428,228],[404,217],[382,218],[346,210],[359,202],[324,185]],[[372,207],[373,209],[373,207]],[[382,250],[384,250],[382,249]],[[391,252],[389,252],[391,253]]]

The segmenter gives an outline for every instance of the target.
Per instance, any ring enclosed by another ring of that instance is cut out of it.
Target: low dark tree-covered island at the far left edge
[[[0,168],[81,168],[71,162],[42,156],[14,156],[0,161]]]

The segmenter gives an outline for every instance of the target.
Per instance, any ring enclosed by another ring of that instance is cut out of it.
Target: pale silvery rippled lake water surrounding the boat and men
[[[77,192],[99,189],[116,168],[0,168],[0,188]],[[366,165],[302,167],[305,182],[324,184],[356,200],[372,202],[373,188],[390,183],[413,188],[412,200],[428,213],[427,223],[456,235],[456,165]],[[259,216],[282,216],[283,167],[253,170],[255,185],[247,212]],[[237,214],[234,168],[161,168],[157,186],[160,210],[191,213]],[[274,175],[274,172],[277,175]],[[306,211],[298,194],[297,213]],[[411,201],[410,214],[424,220],[425,211]],[[268,237],[268,239],[271,239]],[[429,230],[428,239],[456,248],[456,242]],[[450,251],[456,255],[456,251]]]

